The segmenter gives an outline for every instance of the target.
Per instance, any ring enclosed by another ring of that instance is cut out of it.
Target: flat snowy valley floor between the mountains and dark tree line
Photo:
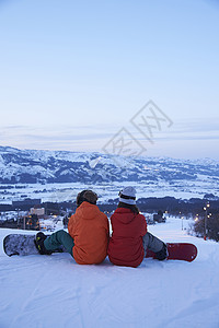
[[[4,188],[0,190],[0,203],[12,203],[13,200],[22,201],[25,198],[39,198],[42,202],[74,201],[78,192],[83,189],[94,190],[99,195],[99,201],[105,202],[110,198],[117,198],[118,191],[129,185],[130,181],[99,183],[95,185],[81,183],[1,185]],[[197,180],[131,181],[131,186],[136,188],[138,198],[171,196],[189,199],[203,198],[206,194],[219,195],[218,180],[214,177],[206,180],[200,175]]]

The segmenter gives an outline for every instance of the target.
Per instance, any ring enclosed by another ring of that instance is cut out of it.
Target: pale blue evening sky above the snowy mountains
[[[214,0],[0,0],[0,144],[102,151],[152,99],[148,156],[219,160]]]

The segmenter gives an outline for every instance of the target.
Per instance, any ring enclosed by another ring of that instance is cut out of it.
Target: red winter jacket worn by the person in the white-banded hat
[[[142,236],[147,233],[146,218],[127,208],[117,208],[111,216],[113,234],[108,244],[112,263],[138,267],[145,257]]]

